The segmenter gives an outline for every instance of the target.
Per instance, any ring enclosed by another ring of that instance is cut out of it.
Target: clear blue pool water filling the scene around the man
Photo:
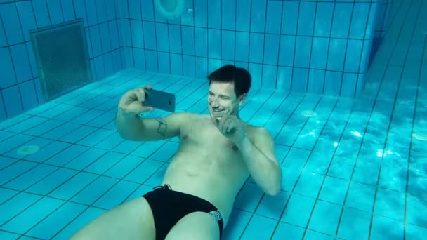
[[[159,185],[179,140],[123,140],[119,98],[152,84],[206,113],[204,76],[228,63],[254,77],[240,115],[268,128],[283,178],[275,197],[245,183],[223,239],[426,238],[427,1],[185,9],[0,1],[0,239],[67,239]],[[45,101],[28,31],[78,18],[100,81]]]

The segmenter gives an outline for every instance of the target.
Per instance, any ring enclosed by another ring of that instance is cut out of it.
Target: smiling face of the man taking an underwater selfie
[[[237,115],[239,106],[244,102],[244,95],[236,98],[235,84],[212,81],[209,86],[209,114],[213,122],[218,123],[224,114]]]

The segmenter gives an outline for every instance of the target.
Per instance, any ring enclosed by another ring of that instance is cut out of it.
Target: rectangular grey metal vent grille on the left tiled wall
[[[44,100],[92,81],[83,19],[30,32]]]

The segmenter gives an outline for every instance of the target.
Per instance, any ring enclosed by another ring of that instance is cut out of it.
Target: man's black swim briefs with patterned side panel
[[[185,215],[194,212],[209,213],[218,221],[220,239],[223,234],[223,218],[218,208],[197,196],[176,192],[169,185],[154,187],[143,197],[150,204],[155,220],[156,239],[164,240],[176,223]]]

